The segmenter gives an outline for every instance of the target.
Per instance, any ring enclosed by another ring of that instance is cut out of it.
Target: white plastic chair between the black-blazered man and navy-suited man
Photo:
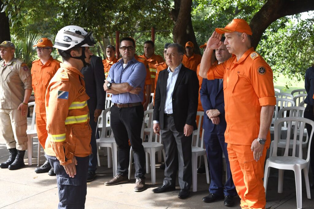
[[[207,184],[209,184],[209,173],[208,173],[208,163],[207,163],[207,155],[206,155],[206,149],[204,149],[204,130],[202,132],[202,138],[199,142],[199,133],[201,129],[201,122],[203,120],[204,112],[198,111],[197,115],[199,116],[198,119],[198,129],[195,130],[196,132],[196,143],[195,146],[193,146],[193,140],[192,140],[192,189],[193,192],[197,191],[197,159],[198,156],[203,156],[204,163],[205,163],[205,172],[206,172],[206,180]]]

